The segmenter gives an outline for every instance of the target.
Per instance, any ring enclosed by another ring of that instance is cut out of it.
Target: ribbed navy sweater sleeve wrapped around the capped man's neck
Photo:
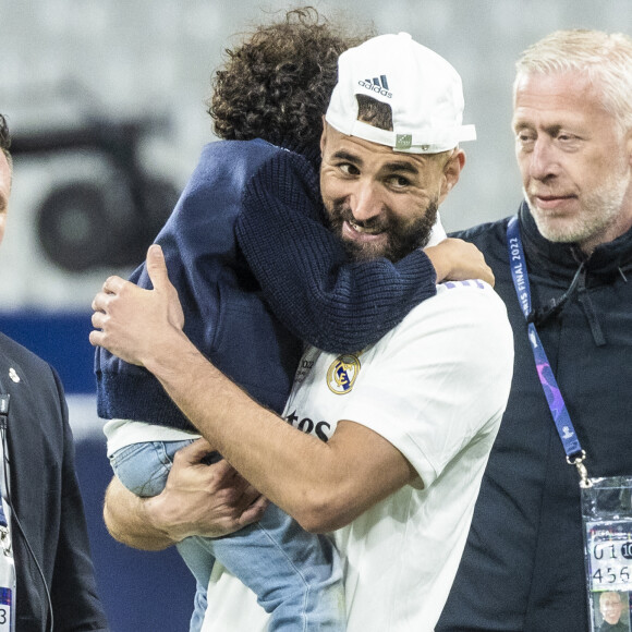
[[[245,189],[236,236],[292,333],[328,352],[358,351],[436,294],[436,272],[418,248],[396,264],[350,262],[324,218],[316,172],[302,156],[282,151]]]

